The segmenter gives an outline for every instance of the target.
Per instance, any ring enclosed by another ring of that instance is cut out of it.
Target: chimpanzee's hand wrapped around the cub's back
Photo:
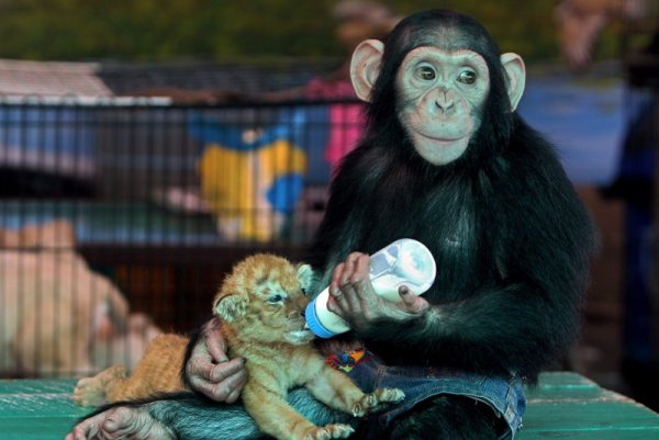
[[[213,400],[233,404],[247,382],[247,370],[243,358],[227,358],[219,324],[213,318],[204,326],[186,363],[186,375],[194,391]]]

